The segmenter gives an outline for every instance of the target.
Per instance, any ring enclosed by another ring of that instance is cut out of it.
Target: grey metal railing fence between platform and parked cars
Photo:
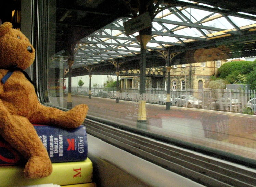
[[[72,94],[88,95],[89,87],[72,87]],[[65,93],[68,88],[65,89]],[[91,96],[119,98],[126,101],[146,100],[147,103],[166,104],[167,90],[146,88],[143,97],[136,88],[91,88]],[[176,89],[170,90],[170,105],[202,108],[206,110],[226,111],[233,113],[256,114],[256,90],[230,89]],[[249,103],[251,102],[251,103]]]

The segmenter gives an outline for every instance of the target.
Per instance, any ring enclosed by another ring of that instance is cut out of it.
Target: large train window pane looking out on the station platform
[[[106,11],[110,2],[113,9]],[[131,12],[120,2],[49,0],[38,23],[41,101],[68,109],[85,103],[89,116],[109,124],[256,159],[256,109],[249,102],[256,97],[256,63],[245,60],[256,56],[252,16],[232,14],[228,19],[207,6],[194,6],[191,12],[189,6],[168,7],[153,20],[143,70],[139,31],[127,34],[124,23]],[[164,99],[159,102],[168,94],[167,64],[169,85],[176,86],[169,92],[171,110]],[[191,67],[182,74],[186,64]],[[235,99],[227,101],[228,108],[219,106],[220,98]],[[145,111],[145,119],[138,111]]]

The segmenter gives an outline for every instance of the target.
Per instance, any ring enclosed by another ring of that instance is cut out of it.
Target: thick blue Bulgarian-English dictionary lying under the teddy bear
[[[87,158],[87,134],[85,126],[74,129],[34,125],[52,163],[83,161]],[[0,166],[19,165],[26,160],[0,137]]]

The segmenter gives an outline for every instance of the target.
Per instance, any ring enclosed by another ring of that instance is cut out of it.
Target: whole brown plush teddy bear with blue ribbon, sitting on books
[[[34,61],[35,49],[12,24],[0,25],[0,135],[28,162],[27,178],[43,178],[52,172],[46,149],[32,124],[75,128],[84,121],[88,107],[77,105],[64,112],[39,103],[33,84],[23,70]]]

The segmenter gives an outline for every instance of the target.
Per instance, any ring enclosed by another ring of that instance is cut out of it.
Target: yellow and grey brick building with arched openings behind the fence
[[[174,65],[170,70],[170,86],[177,89],[207,88],[211,76],[217,73],[218,68],[227,61],[208,61],[193,64]],[[164,70],[165,68],[163,68]],[[162,71],[161,77],[147,75],[146,88],[167,89],[167,73]],[[138,88],[138,76],[121,76],[121,88]]]

